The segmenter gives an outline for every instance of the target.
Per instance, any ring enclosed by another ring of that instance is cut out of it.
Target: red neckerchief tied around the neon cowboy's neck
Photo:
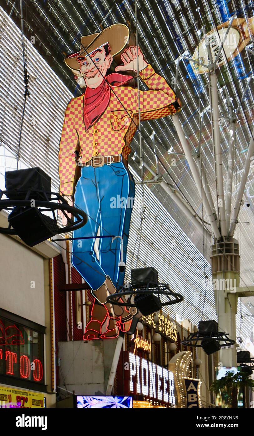
[[[119,73],[112,73],[105,77],[109,85],[121,86],[132,79]],[[110,86],[103,81],[97,88],[86,88],[84,94],[84,122],[88,130],[102,116],[110,101]]]

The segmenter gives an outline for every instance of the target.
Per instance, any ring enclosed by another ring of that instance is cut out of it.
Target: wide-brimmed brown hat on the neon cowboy
[[[93,53],[96,48],[100,48],[105,44],[110,46],[110,54],[114,56],[123,50],[129,41],[130,31],[125,24],[112,24],[106,27],[100,33],[86,35],[81,37],[80,51],[73,53],[64,59],[66,65],[73,71],[79,72],[80,63],[77,61],[77,56],[86,56]]]

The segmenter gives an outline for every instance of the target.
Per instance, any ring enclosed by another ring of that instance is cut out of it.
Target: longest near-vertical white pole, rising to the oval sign
[[[215,163],[218,187],[218,204],[220,211],[220,226],[221,236],[226,236],[226,218],[225,218],[225,203],[224,203],[224,187],[222,176],[222,160],[221,160],[221,138],[219,129],[219,107],[218,107],[218,89],[217,89],[217,75],[213,72],[211,74],[211,109],[213,116],[214,128],[214,150],[215,150]]]

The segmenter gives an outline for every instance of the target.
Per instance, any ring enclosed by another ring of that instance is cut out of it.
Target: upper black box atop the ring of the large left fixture
[[[13,191],[8,195],[10,200],[24,200],[29,189],[33,191],[43,190],[50,192],[51,179],[39,167],[6,171],[5,187],[8,191]],[[28,199],[45,201],[45,196],[40,192],[33,192]],[[49,200],[51,200],[51,197],[49,197]]]

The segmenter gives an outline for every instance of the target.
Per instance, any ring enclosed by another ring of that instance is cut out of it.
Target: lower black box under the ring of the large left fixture
[[[30,247],[46,241],[58,232],[56,221],[43,215],[36,207],[14,208],[8,221],[22,241]]]

